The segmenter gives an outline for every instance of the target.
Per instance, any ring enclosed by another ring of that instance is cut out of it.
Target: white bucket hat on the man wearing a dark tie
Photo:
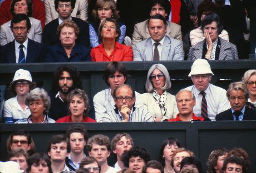
[[[189,77],[191,75],[196,74],[211,74],[214,75],[213,72],[211,72],[210,64],[205,59],[196,59],[191,66],[191,71],[189,73]]]

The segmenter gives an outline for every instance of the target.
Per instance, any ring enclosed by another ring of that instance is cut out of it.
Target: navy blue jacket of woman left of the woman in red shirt
[[[75,44],[70,58],[67,58],[67,54],[62,44],[56,44],[49,48],[46,54],[45,62],[90,62],[90,49],[81,45]]]

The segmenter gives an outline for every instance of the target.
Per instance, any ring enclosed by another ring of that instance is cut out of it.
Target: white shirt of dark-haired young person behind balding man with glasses
[[[135,107],[140,108],[143,106],[142,100],[137,99],[137,96],[140,95],[140,93],[137,93],[135,91],[135,95],[136,95]],[[95,119],[97,122],[102,123],[102,118],[104,114],[116,108],[115,100],[111,95],[111,89],[107,88],[95,94],[95,96],[93,97],[93,105],[95,109]]]

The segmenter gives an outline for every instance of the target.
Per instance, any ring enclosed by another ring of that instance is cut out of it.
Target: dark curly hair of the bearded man
[[[73,86],[72,89],[79,88],[82,89],[82,80],[80,79],[80,73],[76,70],[75,67],[72,67],[70,65],[61,65],[57,68],[55,73],[53,74],[53,80],[52,80],[52,90],[57,92],[60,90],[60,87],[58,85],[58,80],[60,79],[63,72],[67,72],[70,74],[70,77],[73,80]]]

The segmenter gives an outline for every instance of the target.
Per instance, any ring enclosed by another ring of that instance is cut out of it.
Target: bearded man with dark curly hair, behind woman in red
[[[61,65],[53,74],[52,90],[49,92],[51,98],[51,108],[48,116],[57,120],[68,115],[67,95],[75,88],[82,89],[80,73],[76,68],[69,65]],[[89,116],[95,119],[93,102],[90,100]]]

